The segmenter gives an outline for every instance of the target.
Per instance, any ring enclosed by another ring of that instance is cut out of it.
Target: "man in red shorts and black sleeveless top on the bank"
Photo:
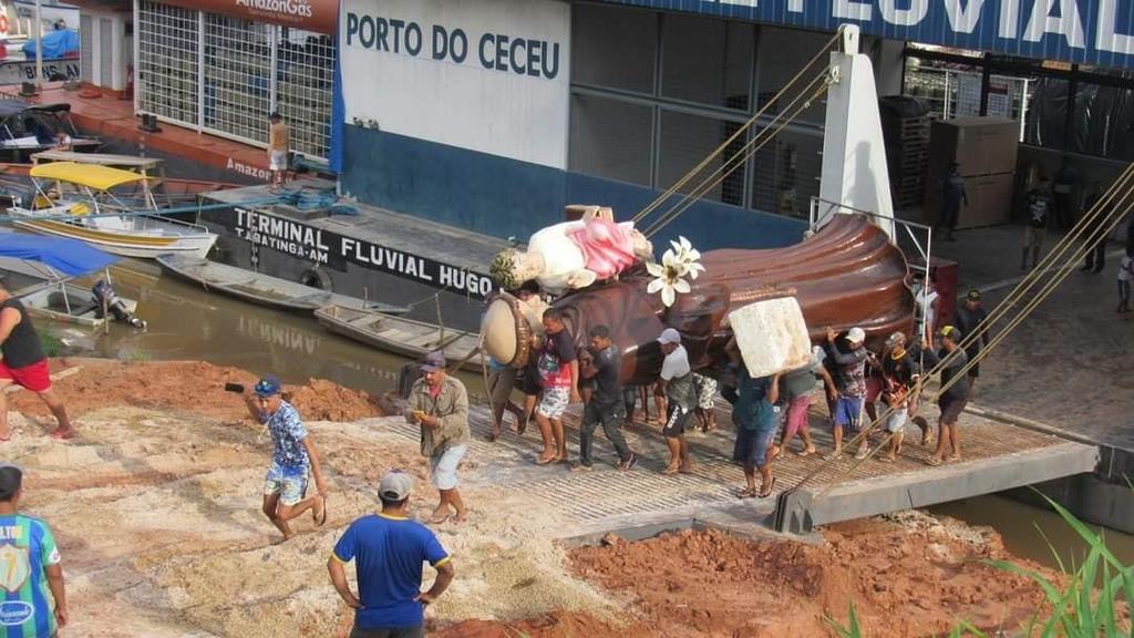
[[[56,438],[71,438],[75,428],[67,418],[67,409],[51,393],[51,376],[48,373],[48,358],[40,345],[40,335],[32,326],[32,318],[18,299],[11,296],[0,279],[0,442],[11,438],[8,430],[8,400],[5,388],[16,384],[27,388],[48,404],[59,421],[51,433]]]

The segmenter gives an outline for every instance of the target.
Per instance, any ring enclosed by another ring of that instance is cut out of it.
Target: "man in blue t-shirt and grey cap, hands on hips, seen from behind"
[[[452,582],[449,554],[430,529],[409,520],[406,504],[414,481],[400,470],[386,472],[378,495],[382,512],[357,519],[335,545],[327,569],[331,584],[355,610],[350,638],[421,638],[424,607]],[[347,585],[344,563],[355,561],[358,595]],[[422,563],[437,570],[428,591],[421,590]]]

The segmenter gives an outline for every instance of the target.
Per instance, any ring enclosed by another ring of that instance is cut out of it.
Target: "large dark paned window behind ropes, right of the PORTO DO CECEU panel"
[[[729,140],[831,39],[590,2],[572,10],[569,168],[657,190]],[[813,67],[801,84],[821,70]],[[779,108],[799,93],[797,84]],[[729,143],[683,192],[696,186],[708,201],[805,218],[819,194],[824,101],[814,100],[793,125],[741,157],[776,112]]]

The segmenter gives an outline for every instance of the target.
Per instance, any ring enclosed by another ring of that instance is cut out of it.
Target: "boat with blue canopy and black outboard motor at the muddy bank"
[[[36,237],[0,232],[0,271],[23,282],[9,292],[18,297],[33,317],[44,317],[87,328],[105,325],[107,312],[92,291],[71,282],[75,277],[105,270],[118,258],[75,240]],[[105,279],[109,282],[107,271]],[[27,283],[31,280],[32,283]],[[117,297],[133,316],[137,301]]]

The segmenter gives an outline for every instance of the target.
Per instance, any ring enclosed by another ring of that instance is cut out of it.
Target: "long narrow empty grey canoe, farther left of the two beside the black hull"
[[[336,294],[297,282],[270,277],[244,268],[196,259],[184,254],[158,257],[162,270],[201,284],[206,291],[217,291],[257,305],[293,312],[314,312],[324,305],[350,310],[403,314],[408,308],[379,303]]]

